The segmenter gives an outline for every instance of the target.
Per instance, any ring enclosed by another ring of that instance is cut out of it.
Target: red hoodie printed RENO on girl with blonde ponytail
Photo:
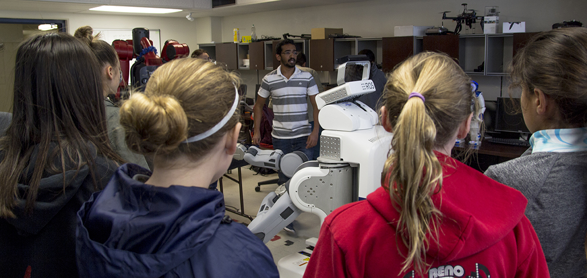
[[[440,244],[430,241],[426,252],[431,267],[424,277],[550,277],[524,215],[524,195],[436,155],[444,179],[432,200],[443,217]],[[407,248],[396,236],[398,218],[384,187],[367,200],[338,208],[326,217],[303,277],[421,277],[413,268],[400,272]]]

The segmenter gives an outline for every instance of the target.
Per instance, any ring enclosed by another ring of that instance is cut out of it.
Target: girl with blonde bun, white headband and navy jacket
[[[120,108],[129,148],[153,173],[124,164],[77,214],[83,277],[279,277],[269,249],[225,215],[210,184],[237,148],[239,79],[201,59],[158,67]]]

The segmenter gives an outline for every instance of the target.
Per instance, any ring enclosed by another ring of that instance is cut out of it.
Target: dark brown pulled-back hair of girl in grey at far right
[[[539,33],[516,54],[510,89],[538,88],[558,105],[569,125],[587,126],[587,29]]]

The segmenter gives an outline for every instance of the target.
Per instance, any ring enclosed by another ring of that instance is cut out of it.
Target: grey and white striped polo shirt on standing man
[[[285,78],[281,66],[263,77],[259,95],[273,99],[273,132],[279,139],[292,139],[312,133],[308,122],[308,95],[318,94],[318,86],[311,73],[295,68],[294,74]]]

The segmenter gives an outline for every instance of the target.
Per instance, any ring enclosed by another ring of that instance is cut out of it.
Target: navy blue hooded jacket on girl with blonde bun
[[[139,181],[150,174],[124,164],[77,212],[80,277],[279,277],[263,242],[222,220],[220,192]]]

